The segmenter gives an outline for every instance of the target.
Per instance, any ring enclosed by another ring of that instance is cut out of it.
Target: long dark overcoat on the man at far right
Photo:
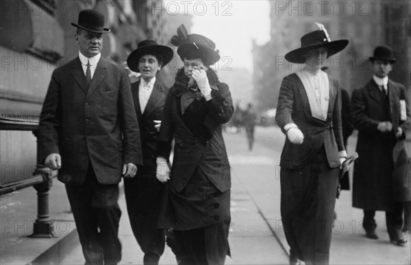
[[[359,158],[353,176],[353,206],[364,210],[389,210],[393,204],[393,148],[395,133],[401,127],[403,139],[410,126],[407,104],[406,121],[401,122],[399,100],[407,100],[403,85],[388,81],[388,98],[371,79],[351,97],[351,116],[358,130],[356,151]],[[381,133],[379,122],[389,121],[393,130]]]

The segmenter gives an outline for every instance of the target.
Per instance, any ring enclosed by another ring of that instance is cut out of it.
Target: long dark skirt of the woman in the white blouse
[[[281,169],[281,214],[291,252],[306,264],[329,264],[338,174],[325,150],[302,169]]]

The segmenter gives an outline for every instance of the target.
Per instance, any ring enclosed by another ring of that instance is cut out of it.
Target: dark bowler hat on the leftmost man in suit
[[[104,27],[104,15],[96,10],[80,11],[79,22],[77,24],[71,23],[71,25],[96,33],[110,32],[110,29]]]

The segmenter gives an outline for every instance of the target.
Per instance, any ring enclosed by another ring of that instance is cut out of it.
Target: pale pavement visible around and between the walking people
[[[253,151],[244,133],[224,135],[232,165],[232,226],[229,243],[232,258],[226,264],[288,264],[288,244],[279,211],[279,156],[284,135],[279,128],[256,129]],[[349,139],[353,152],[355,137]],[[121,264],[142,264],[142,251],[132,234],[123,194],[120,238]],[[27,238],[36,219],[36,192],[32,188],[1,197],[0,264],[84,264],[81,247],[64,185],[54,180],[50,214],[58,238]],[[362,211],[351,207],[351,191],[343,191],[336,203],[337,221],[331,248],[331,264],[411,264],[411,246],[390,244],[384,212],[377,212],[379,240],[365,238]],[[160,264],[176,264],[166,247]]]

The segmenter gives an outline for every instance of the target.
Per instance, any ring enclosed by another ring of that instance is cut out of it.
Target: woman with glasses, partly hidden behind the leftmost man
[[[138,43],[127,57],[128,68],[141,74],[140,81],[132,84],[132,94],[144,165],[138,167],[135,178],[124,180],[124,191],[134,236],[145,253],[144,264],[158,264],[165,245],[164,232],[157,227],[164,184],[155,178],[155,148],[169,89],[156,75],[171,59],[173,49],[154,40]]]

